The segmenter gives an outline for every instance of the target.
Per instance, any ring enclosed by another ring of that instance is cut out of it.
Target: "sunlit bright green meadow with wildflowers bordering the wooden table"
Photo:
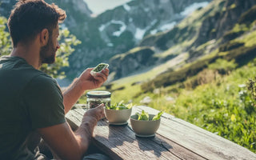
[[[216,65],[219,66],[220,62],[222,61],[216,61]],[[144,74],[115,81],[111,88],[114,90],[111,102],[124,100],[164,110],[256,153],[256,102],[246,90],[248,79],[256,75],[255,62],[256,58],[237,69],[232,65],[234,62],[227,62],[228,66],[232,66],[232,70],[226,74],[218,74],[216,65],[212,64],[211,69],[202,70],[185,82],[160,87],[153,92],[143,93],[141,84],[134,84],[142,79],[154,78],[163,70],[162,66],[165,64]],[[202,78],[206,79],[202,81]],[[197,86],[190,87],[194,82],[198,82]],[[120,87],[124,89],[117,90]],[[104,90],[104,87],[101,90]],[[145,97],[150,97],[152,101],[147,104],[141,103]]]

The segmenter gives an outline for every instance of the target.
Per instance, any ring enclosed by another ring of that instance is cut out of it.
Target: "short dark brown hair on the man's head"
[[[14,6],[8,19],[8,28],[13,46],[18,42],[28,42],[43,29],[52,33],[58,22],[64,21],[66,13],[57,5],[43,0],[20,0]]]

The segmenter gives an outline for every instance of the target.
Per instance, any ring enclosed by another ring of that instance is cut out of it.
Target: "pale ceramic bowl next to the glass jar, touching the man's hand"
[[[127,124],[127,120],[130,118],[131,110],[132,108],[126,110],[109,110],[106,108],[104,109],[106,118],[111,125]]]

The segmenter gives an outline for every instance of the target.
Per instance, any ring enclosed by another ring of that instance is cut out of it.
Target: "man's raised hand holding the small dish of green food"
[[[82,90],[93,90],[106,82],[109,69],[106,68],[102,70],[102,72],[97,73],[95,77],[90,74],[90,71],[93,69],[94,68],[88,68],[79,76],[78,81],[82,84]]]

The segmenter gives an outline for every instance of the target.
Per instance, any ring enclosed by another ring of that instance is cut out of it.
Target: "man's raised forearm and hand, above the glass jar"
[[[75,78],[74,82],[63,92],[65,114],[74,106],[74,103],[78,101],[85,90],[93,90],[106,82],[109,75],[108,69],[102,70],[102,73],[98,73],[95,77],[90,74],[90,70],[93,68],[82,72],[79,78]]]

